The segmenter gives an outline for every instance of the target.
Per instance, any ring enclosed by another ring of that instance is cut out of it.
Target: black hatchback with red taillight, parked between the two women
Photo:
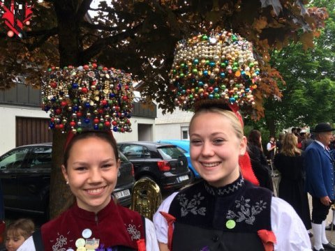
[[[151,178],[162,190],[177,189],[191,183],[187,158],[177,146],[157,142],[120,142],[118,146],[133,163],[135,180]]]

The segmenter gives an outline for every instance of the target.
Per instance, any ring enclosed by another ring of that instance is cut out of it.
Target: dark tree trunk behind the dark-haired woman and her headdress
[[[59,67],[78,66],[80,62],[79,24],[76,20],[77,1],[54,1],[59,27]],[[55,62],[50,62],[54,63]],[[88,62],[87,62],[88,63]],[[50,218],[55,218],[70,201],[71,192],[66,185],[61,165],[64,160],[66,134],[54,130],[52,143],[52,172],[50,181]]]

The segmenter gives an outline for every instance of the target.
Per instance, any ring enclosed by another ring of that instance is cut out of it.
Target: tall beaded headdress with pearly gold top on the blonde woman
[[[253,90],[260,81],[252,45],[229,31],[181,40],[174,52],[170,84],[174,102],[192,110],[200,99],[223,99],[236,105],[255,105]]]

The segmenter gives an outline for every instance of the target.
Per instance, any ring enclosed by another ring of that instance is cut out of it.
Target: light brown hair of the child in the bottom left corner
[[[34,222],[30,219],[18,219],[15,222],[10,223],[6,228],[6,236],[13,235],[13,236],[23,236],[24,240],[27,240],[35,231]]]

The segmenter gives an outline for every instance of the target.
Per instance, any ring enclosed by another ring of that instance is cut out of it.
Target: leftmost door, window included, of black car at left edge
[[[5,208],[17,208],[17,170],[27,165],[28,147],[8,151],[0,157],[0,178]]]

